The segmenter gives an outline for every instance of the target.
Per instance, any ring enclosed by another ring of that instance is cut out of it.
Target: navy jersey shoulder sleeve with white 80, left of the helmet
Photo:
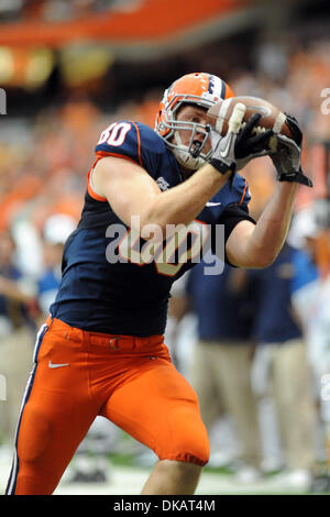
[[[160,136],[145,124],[120,121],[113,122],[101,133],[95,151],[97,157],[130,160],[153,175],[157,167],[161,144]]]

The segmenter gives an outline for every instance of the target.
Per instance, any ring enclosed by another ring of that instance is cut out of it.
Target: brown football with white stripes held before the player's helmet
[[[229,120],[238,105],[241,105],[237,108],[239,113],[238,120],[242,120],[239,130],[245,125],[254,113],[261,113],[262,117],[257,127],[254,129],[255,133],[261,133],[272,129],[274,133],[282,133],[289,138],[293,136],[290,129],[286,123],[286,116],[276,108],[276,106],[272,105],[267,100],[248,96],[230,97],[229,99],[220,100],[208,109],[207,120],[209,124],[222,134],[222,136],[224,136],[228,131]],[[244,110],[245,113],[243,118],[240,119],[240,113],[244,112]]]

